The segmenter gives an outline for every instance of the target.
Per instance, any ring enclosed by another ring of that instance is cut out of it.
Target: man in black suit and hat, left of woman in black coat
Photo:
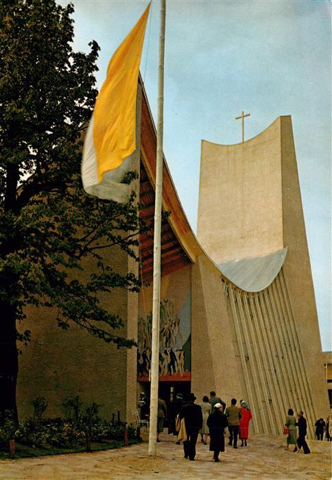
[[[189,394],[187,405],[183,405],[179,413],[179,417],[185,419],[187,431],[187,440],[183,442],[185,458],[191,461],[195,460],[198,432],[203,425],[202,409],[200,405],[195,405],[195,400],[195,395]]]

